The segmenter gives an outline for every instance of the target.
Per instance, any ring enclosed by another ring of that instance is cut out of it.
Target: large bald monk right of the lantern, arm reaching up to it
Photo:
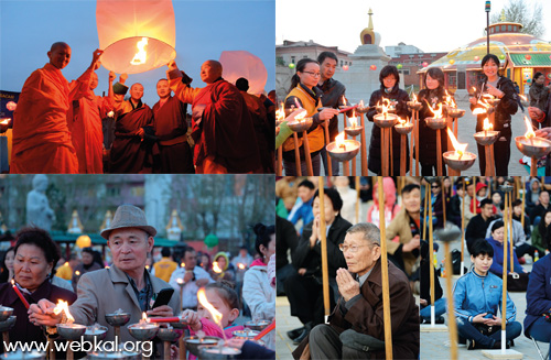
[[[169,63],[169,84],[183,102],[192,103],[192,138],[197,174],[261,173],[255,128],[239,90],[222,78],[222,64],[201,66],[204,88],[191,88],[176,63]]]

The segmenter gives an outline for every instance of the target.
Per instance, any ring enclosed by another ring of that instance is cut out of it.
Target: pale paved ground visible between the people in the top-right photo
[[[475,133],[475,126],[476,126],[476,117],[473,116],[471,112],[469,103],[468,101],[458,101],[457,107],[460,109],[465,109],[465,116],[461,118],[458,121],[458,130],[457,130],[457,140],[461,143],[468,143],[467,151],[477,154],[477,149],[476,149],[476,141],[473,137]],[[528,111],[526,111],[526,114],[528,114]],[[515,144],[515,137],[520,137],[525,134],[526,132],[526,126],[525,126],[525,113],[519,109],[519,111],[512,117],[512,140],[511,140],[511,159],[509,162],[509,175],[527,175],[527,171],[525,167],[519,163],[519,160],[522,159],[522,154],[520,151],[517,149],[517,145]],[[338,126],[339,129],[343,129],[343,117],[339,117],[341,123]],[[371,137],[371,129],[374,127],[372,122],[367,121],[366,119],[366,145],[367,145],[367,151],[369,151],[369,141]],[[359,137],[356,138],[356,140],[360,140]],[[421,141],[423,139],[420,139]],[[368,154],[369,155],[369,154]],[[356,157],[356,174],[360,175],[361,172],[361,157],[358,154]],[[350,172],[352,172],[352,163],[350,163]],[[341,175],[343,174],[342,172],[343,166],[341,165]],[[322,174],[325,174],[323,171],[323,165],[322,165]],[[350,173],[352,174],[352,173]],[[369,176],[376,175],[375,173],[368,172]],[[478,170],[478,160],[476,160],[475,164],[467,171],[462,172],[462,175],[480,175],[479,170]]]

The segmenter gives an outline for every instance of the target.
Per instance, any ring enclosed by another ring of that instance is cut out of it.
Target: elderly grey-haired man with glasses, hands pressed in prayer
[[[348,270],[337,270],[341,298],[329,316],[293,352],[303,353],[306,343],[312,359],[385,359],[381,249],[379,229],[372,223],[349,228],[339,247]],[[419,358],[419,308],[406,274],[388,263],[392,356]],[[367,349],[367,351],[366,351]]]

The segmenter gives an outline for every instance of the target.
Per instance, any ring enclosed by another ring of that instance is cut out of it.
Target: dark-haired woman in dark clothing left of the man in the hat
[[[13,308],[18,317],[10,330],[10,341],[45,341],[44,330],[29,321],[25,303],[37,303],[47,298],[57,303],[63,299],[72,304],[76,294],[52,285],[50,279],[54,275],[54,265],[60,260],[60,251],[46,231],[39,228],[23,228],[17,234],[14,248],[14,285],[0,284],[0,304]],[[14,287],[17,287],[17,291]],[[18,295],[18,292],[21,295]]]

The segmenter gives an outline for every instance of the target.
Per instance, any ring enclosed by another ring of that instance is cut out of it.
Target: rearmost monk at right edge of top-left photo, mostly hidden
[[[276,123],[270,126],[268,122],[268,111],[263,101],[260,100],[259,97],[247,92],[249,89],[249,80],[245,77],[240,77],[236,80],[236,87],[241,92],[245,103],[247,103],[252,123],[255,124],[263,173],[273,174],[276,160],[273,157],[273,149],[276,149]]]

